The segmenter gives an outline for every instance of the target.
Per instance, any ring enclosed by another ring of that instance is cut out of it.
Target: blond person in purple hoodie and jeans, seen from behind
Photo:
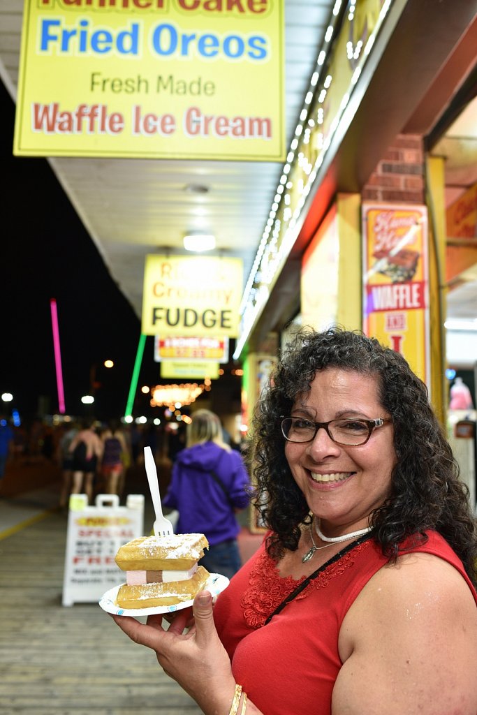
[[[241,566],[235,512],[248,506],[249,486],[240,453],[222,440],[220,419],[210,410],[197,410],[163,504],[179,511],[177,533],[205,534],[209,549],[200,563],[210,573],[231,578]]]

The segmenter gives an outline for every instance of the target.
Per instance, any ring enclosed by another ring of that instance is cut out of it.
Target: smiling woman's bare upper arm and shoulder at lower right
[[[345,616],[339,649],[333,715],[476,715],[476,603],[436,556],[380,569]]]

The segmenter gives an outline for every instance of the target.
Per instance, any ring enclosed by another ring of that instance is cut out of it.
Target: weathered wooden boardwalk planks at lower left
[[[62,606],[67,517],[0,541],[0,713],[197,715],[95,603]]]

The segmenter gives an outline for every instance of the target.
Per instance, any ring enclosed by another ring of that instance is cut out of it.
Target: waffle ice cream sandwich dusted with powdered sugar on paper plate
[[[155,608],[191,601],[210,573],[197,566],[209,543],[203,534],[143,536],[119,548],[115,561],[126,571],[120,608]]]

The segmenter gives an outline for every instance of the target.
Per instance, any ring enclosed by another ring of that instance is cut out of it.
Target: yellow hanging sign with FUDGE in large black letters
[[[240,258],[146,256],[142,333],[236,337],[242,288]]]

